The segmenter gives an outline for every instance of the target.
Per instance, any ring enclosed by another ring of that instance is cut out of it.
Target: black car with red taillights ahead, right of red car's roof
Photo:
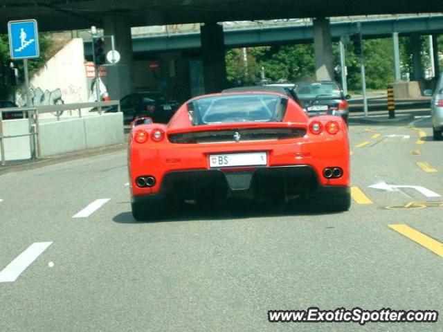
[[[302,102],[309,116],[329,114],[341,116],[347,122],[349,106],[340,86],[334,81],[318,81],[312,83],[298,83],[294,88],[298,99]]]

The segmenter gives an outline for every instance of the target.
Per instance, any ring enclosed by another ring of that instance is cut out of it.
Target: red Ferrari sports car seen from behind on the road
[[[155,219],[173,201],[304,199],[316,210],[350,208],[347,127],[309,118],[287,95],[202,95],[168,124],[139,119],[129,133],[132,214]]]

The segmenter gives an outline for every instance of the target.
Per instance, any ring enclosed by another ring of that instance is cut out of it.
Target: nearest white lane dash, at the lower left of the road
[[[0,282],[15,282],[30,264],[51,246],[52,242],[35,242],[0,271]]]

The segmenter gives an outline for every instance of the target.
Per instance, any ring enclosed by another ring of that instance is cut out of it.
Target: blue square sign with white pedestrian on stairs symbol
[[[39,57],[39,35],[35,19],[8,22],[11,59]]]

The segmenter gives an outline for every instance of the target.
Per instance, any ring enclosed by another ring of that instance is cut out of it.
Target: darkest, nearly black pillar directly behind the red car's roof
[[[223,26],[215,22],[200,26],[206,93],[220,92],[226,87]]]

